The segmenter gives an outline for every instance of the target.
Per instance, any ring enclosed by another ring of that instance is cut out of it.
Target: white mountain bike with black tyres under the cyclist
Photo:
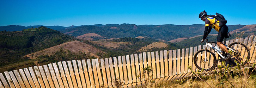
[[[227,54],[224,51],[221,51],[217,46],[212,46],[212,43],[217,44],[216,42],[208,42],[206,39],[205,49],[199,50],[195,53],[193,61],[198,70],[213,70],[216,67],[216,64],[219,60],[228,60],[230,63],[236,64],[231,59],[226,59]],[[231,57],[239,64],[246,64],[250,58],[250,52],[246,45],[240,42],[233,42],[230,45],[226,45],[226,38],[224,39],[224,45],[226,46],[228,52],[233,55]],[[210,47],[211,50],[207,48]],[[215,52],[215,54],[214,54]],[[216,59],[216,57],[220,59]]]

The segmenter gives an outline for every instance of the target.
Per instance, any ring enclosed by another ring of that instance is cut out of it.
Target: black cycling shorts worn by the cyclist
[[[222,42],[223,39],[225,38],[225,36],[227,35],[228,32],[228,27],[227,25],[223,25],[220,29],[219,29],[219,33],[218,33],[218,37],[217,37],[217,42]]]

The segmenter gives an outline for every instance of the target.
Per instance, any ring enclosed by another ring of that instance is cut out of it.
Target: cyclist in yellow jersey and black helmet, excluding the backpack
[[[217,37],[217,44],[224,52],[226,52],[226,60],[228,60],[232,57],[232,55],[228,54],[226,46],[222,43],[223,39],[225,38],[228,32],[228,27],[227,25],[219,26],[219,20],[209,16],[210,15],[207,15],[207,12],[205,11],[199,14],[199,18],[201,18],[202,21],[205,21],[205,31],[203,33],[203,38],[201,42],[205,41],[206,37],[211,32],[212,28],[215,29],[217,32],[219,32]]]

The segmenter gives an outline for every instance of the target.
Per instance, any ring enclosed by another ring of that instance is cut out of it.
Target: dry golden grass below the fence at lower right
[[[212,77],[208,77],[206,80],[207,83],[211,84],[213,88],[241,88],[241,81],[243,79],[243,82],[245,81],[244,78],[241,77],[233,77],[229,78],[230,83],[224,82],[223,87],[219,87],[216,85],[218,80],[213,79]],[[243,88],[255,88],[255,78],[249,78],[247,83]],[[209,85],[207,85],[205,82],[195,78],[194,80],[190,79],[183,79],[183,80],[169,80],[169,81],[158,81],[156,82],[152,88],[211,88]]]

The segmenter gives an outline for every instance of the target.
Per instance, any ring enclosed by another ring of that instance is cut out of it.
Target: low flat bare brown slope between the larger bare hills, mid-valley
[[[99,44],[100,46],[104,46],[107,48],[119,48],[121,44],[128,44],[131,45],[131,43],[127,42],[107,42],[107,41],[91,41],[92,44]]]

